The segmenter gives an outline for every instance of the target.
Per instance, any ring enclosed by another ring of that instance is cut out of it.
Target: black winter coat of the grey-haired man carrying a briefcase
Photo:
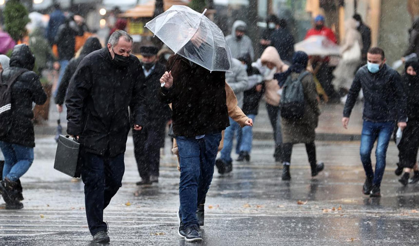
[[[67,132],[79,135],[86,151],[110,156],[124,153],[130,124],[145,127],[144,74],[137,57],[118,67],[108,48],[90,53],[76,69],[68,88]]]

